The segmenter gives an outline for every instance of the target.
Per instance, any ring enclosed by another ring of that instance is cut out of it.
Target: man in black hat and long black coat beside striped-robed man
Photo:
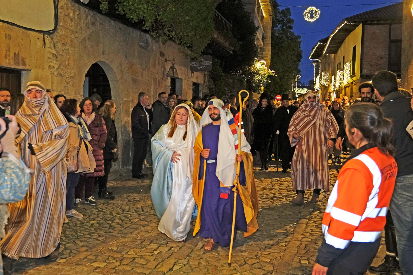
[[[278,148],[280,149],[282,173],[287,173],[295,150],[295,146],[291,147],[290,139],[287,135],[288,125],[290,125],[292,115],[294,115],[298,108],[291,105],[291,99],[288,97],[288,94],[281,96],[281,103],[282,106],[275,110],[273,132],[277,134],[276,139],[278,139]]]

